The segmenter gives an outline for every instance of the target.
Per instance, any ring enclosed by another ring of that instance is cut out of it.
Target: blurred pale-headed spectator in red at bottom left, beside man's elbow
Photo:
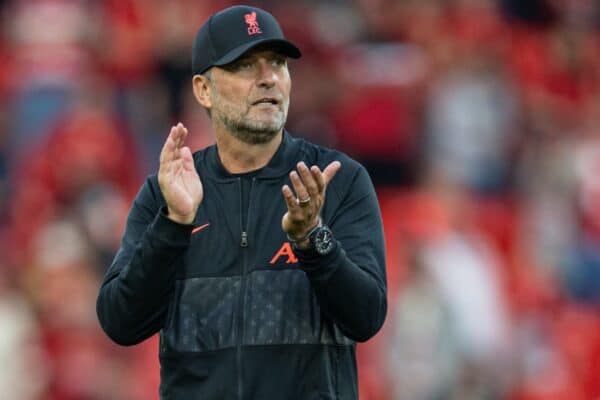
[[[78,219],[62,216],[44,224],[31,253],[22,285],[39,323],[40,353],[45,357],[40,366],[47,374],[44,392],[60,400],[147,398],[146,382],[152,374],[146,369],[145,376],[137,375],[142,352],[116,352],[89,312],[99,285],[100,260]]]

